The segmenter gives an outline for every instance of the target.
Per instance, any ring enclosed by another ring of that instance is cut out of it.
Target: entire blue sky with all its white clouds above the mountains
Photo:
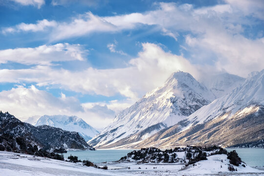
[[[103,128],[177,70],[264,68],[262,0],[0,0],[1,109]]]

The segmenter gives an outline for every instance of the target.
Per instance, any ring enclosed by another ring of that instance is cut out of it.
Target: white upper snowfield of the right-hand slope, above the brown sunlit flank
[[[226,112],[230,112],[228,115],[230,117],[239,110],[248,107],[241,112],[246,113],[246,110],[252,109],[249,107],[251,105],[264,105],[264,69],[260,72],[250,73],[242,85],[204,106],[186,119],[193,123],[203,123]]]

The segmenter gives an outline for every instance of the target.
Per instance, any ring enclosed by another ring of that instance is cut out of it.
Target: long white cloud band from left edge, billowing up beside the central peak
[[[162,85],[178,69],[198,77],[197,68],[182,56],[165,52],[156,44],[145,43],[142,46],[143,51],[125,68],[89,67],[82,71],[69,71],[36,66],[29,69],[2,69],[0,82],[35,82],[38,86],[59,87],[84,94],[121,94],[135,101],[147,91]]]

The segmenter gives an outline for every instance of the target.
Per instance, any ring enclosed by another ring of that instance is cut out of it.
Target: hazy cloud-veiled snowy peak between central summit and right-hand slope
[[[230,93],[234,88],[238,87],[245,81],[237,75],[223,73],[218,75],[213,75],[206,80],[203,80],[203,84],[209,88],[217,98],[220,98],[228,93]]]

